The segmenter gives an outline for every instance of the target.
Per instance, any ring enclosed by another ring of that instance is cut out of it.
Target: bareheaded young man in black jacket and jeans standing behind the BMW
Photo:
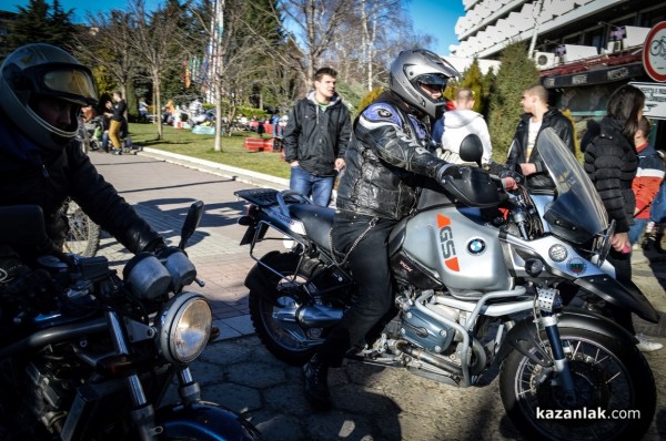
[[[314,91],[292,109],[283,137],[290,188],[322,206],[331,202],[352,133],[350,111],[335,93],[336,75],[331,68],[316,71]]]

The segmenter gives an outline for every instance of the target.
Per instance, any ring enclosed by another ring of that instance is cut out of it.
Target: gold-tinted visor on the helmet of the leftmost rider
[[[90,70],[83,65],[50,63],[30,68],[34,92],[81,105],[97,104],[97,86]]]

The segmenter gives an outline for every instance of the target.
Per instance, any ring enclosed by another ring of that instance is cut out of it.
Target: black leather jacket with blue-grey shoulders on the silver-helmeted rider
[[[410,214],[424,176],[438,180],[447,164],[428,143],[428,129],[400,96],[382,93],[354,121],[337,209],[396,221]]]

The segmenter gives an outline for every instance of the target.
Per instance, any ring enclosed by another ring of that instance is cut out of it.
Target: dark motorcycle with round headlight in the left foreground
[[[189,368],[212,331],[206,299],[184,290],[203,284],[182,252],[202,213],[193,204],[179,247],[138,254],[123,279],[105,257],[58,252],[12,280],[0,270],[0,438],[261,439],[202,401]],[[1,207],[0,223],[0,244],[49,244],[38,206]],[[180,402],[163,403],[174,378]]]

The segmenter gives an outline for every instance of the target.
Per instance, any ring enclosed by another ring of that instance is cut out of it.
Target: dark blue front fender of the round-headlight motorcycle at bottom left
[[[260,441],[261,433],[249,421],[212,402],[175,404],[158,410],[160,438],[196,441]]]

